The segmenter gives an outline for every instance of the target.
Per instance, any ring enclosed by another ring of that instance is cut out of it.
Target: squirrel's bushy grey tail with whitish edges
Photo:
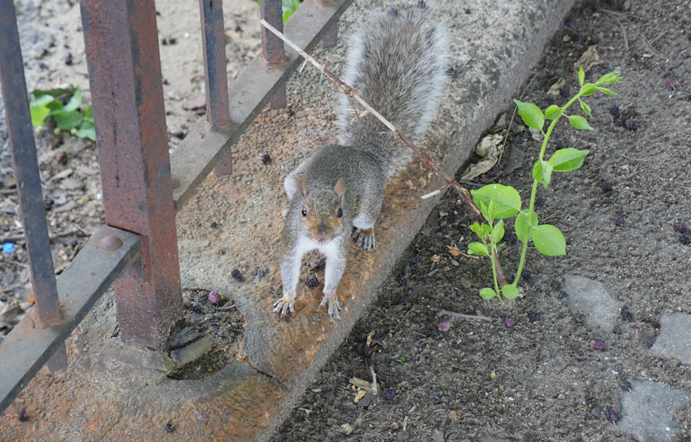
[[[423,1],[391,9],[354,32],[343,80],[372,108],[418,143],[442,99],[449,44]],[[355,115],[355,110],[361,117]],[[338,109],[339,143],[373,152],[387,177],[404,169],[413,152],[376,117],[345,95]]]

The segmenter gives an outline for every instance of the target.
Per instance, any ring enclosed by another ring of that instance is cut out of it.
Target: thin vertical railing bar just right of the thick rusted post
[[[206,120],[214,131],[231,128],[226,74],[223,0],[199,0],[206,82]]]

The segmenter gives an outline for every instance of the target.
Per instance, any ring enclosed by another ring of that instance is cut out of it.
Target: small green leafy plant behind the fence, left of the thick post
[[[82,106],[81,89],[50,89],[48,91],[33,91],[31,100],[31,125],[40,126],[46,120],[52,119],[57,129],[70,131],[80,137],[96,141],[93,128],[92,107],[80,110]]]

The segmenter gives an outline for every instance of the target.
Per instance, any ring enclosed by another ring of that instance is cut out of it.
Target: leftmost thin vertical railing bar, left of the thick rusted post
[[[22,208],[24,238],[29,252],[31,285],[36,298],[33,313],[38,326],[49,327],[60,324],[63,314],[57,301],[55,269],[48,241],[48,223],[43,207],[39,162],[33,139],[14,4],[8,0],[0,1],[0,82],[13,152],[14,178],[17,180],[17,194]],[[65,345],[60,346],[55,354],[49,361],[50,369],[65,368]]]

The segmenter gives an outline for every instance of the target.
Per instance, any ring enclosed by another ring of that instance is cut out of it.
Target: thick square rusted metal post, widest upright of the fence
[[[180,316],[171,164],[153,0],[82,0],[106,223],[142,236],[115,282],[120,336],[165,347]]]

